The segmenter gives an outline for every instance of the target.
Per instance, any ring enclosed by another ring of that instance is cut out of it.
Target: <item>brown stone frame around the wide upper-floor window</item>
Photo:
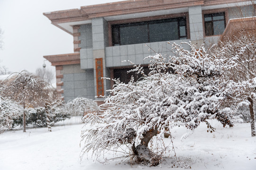
[[[129,24],[129,23],[133,24],[133,23],[141,23],[141,22],[153,22],[153,21],[157,22],[158,20],[173,19],[173,18],[179,18],[179,17],[185,17],[186,38],[190,39],[188,12],[185,12],[185,13],[162,15],[162,16],[141,17],[141,18],[131,18],[131,19],[124,19],[124,20],[108,21],[108,45],[113,46],[113,37],[112,37],[112,26],[113,25],[123,25],[123,24]],[[119,37],[120,37],[120,34],[119,34]],[[184,37],[184,36],[182,36],[182,37]],[[149,38],[149,35],[148,35],[148,38]],[[120,38],[119,38],[119,41],[120,41]],[[145,43],[150,43],[150,42],[145,42]]]

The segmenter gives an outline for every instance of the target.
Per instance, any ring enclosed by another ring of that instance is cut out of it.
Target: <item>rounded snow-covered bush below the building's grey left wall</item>
[[[73,116],[84,116],[87,113],[94,113],[99,110],[96,102],[84,97],[77,97],[66,104],[67,110]]]

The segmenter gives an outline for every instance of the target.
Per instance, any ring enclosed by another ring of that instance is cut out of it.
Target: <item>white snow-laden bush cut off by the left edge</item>
[[[15,119],[22,119],[23,108],[17,102],[0,97],[0,133],[14,127]]]

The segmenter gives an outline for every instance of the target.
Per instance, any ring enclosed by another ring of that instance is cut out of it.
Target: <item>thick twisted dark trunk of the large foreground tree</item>
[[[150,162],[151,166],[157,166],[160,159],[158,159],[157,154],[150,151],[148,148],[149,142],[153,136],[158,134],[158,127],[152,128],[145,132],[141,139],[141,144],[132,145],[132,152],[136,156],[136,161],[138,162]],[[154,159],[156,158],[156,159]]]

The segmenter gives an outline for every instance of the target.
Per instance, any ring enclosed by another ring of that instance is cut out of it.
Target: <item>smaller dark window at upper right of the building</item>
[[[204,15],[205,35],[219,35],[225,30],[225,13]]]

